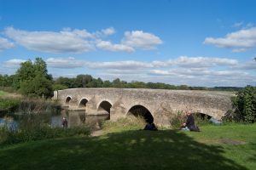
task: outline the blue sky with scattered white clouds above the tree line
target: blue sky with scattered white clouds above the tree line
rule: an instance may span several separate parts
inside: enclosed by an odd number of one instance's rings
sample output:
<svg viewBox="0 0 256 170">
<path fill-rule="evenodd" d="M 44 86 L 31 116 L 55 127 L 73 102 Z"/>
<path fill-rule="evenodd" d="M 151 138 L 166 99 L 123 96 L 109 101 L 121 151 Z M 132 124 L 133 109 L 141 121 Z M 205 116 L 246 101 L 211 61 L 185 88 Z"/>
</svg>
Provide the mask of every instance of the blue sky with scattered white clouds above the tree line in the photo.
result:
<svg viewBox="0 0 256 170">
<path fill-rule="evenodd" d="M 256 86 L 256 1 L 0 0 L 0 74 Z"/>
</svg>

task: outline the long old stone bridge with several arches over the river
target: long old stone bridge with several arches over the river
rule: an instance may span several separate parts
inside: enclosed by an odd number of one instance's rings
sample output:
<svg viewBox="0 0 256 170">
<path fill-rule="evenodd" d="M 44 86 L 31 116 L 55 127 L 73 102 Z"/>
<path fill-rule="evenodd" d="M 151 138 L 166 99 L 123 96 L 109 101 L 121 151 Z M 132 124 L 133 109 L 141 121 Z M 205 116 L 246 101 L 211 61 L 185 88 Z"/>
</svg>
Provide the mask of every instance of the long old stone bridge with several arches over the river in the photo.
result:
<svg viewBox="0 0 256 170">
<path fill-rule="evenodd" d="M 232 95 L 214 91 L 70 88 L 55 91 L 54 99 L 68 110 L 82 110 L 86 115 L 109 114 L 113 121 L 128 115 L 143 116 L 147 122 L 168 127 L 170 118 L 184 110 L 220 120 L 231 109 Z"/>
</svg>

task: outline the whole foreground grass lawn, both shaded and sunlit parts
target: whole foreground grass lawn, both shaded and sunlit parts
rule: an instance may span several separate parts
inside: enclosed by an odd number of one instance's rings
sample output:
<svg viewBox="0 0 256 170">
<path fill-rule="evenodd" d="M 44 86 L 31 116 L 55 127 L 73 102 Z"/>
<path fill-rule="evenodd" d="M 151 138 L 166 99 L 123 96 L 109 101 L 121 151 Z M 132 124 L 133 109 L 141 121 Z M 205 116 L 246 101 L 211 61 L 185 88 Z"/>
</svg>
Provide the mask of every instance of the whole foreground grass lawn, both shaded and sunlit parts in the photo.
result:
<svg viewBox="0 0 256 170">
<path fill-rule="evenodd" d="M 240 144 L 225 144 L 230 139 Z M 0 169 L 256 169 L 256 124 L 129 130 L 0 149 Z"/>
</svg>

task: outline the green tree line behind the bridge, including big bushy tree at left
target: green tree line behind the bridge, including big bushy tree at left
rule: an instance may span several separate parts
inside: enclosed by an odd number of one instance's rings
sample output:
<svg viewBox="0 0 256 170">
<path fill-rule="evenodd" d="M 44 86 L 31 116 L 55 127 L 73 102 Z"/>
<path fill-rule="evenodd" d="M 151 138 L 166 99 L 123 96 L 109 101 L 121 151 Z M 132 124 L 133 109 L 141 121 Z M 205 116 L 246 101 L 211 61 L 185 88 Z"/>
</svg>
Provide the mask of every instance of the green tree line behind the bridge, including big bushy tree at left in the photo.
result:
<svg viewBox="0 0 256 170">
<path fill-rule="evenodd" d="M 77 77 L 53 78 L 47 70 L 45 61 L 41 58 L 27 60 L 20 64 L 20 68 L 14 75 L 0 74 L 0 87 L 13 88 L 20 94 L 32 96 L 51 97 L 54 90 L 66 88 L 152 88 L 152 89 L 178 89 L 178 90 L 224 90 L 238 91 L 237 87 L 191 87 L 187 85 L 171 85 L 163 82 L 125 82 L 119 78 L 112 82 L 103 81 L 102 78 L 94 78 L 88 74 L 80 74 Z"/>
</svg>

